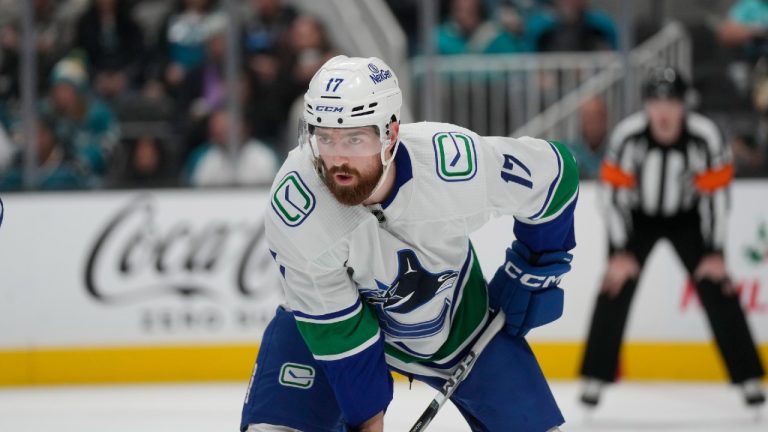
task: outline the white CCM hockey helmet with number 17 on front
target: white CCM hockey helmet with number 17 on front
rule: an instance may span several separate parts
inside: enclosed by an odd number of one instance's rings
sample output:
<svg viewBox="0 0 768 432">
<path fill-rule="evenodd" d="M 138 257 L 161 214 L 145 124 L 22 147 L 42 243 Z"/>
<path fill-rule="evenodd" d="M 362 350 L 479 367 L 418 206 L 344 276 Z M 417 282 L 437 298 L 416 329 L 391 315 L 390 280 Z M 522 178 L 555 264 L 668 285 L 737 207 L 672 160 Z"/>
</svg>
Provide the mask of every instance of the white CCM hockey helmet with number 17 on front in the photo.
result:
<svg viewBox="0 0 768 432">
<path fill-rule="evenodd" d="M 304 95 L 302 144 L 310 144 L 319 155 L 312 138 L 315 127 L 355 128 L 375 126 L 378 129 L 382 163 L 389 144 L 389 124 L 400 119 L 403 96 L 397 76 L 376 57 L 336 56 L 328 60 L 312 77 Z"/>
</svg>

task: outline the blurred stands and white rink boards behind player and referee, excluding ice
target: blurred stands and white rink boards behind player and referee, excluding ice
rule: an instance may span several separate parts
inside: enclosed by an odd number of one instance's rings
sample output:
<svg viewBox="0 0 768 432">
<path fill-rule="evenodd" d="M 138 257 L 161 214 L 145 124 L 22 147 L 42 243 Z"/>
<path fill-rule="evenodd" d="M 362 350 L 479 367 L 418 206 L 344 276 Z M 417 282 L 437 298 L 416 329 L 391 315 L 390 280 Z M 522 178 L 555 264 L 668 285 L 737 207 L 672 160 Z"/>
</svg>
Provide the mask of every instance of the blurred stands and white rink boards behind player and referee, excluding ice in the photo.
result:
<svg viewBox="0 0 768 432">
<path fill-rule="evenodd" d="M 0 0 L 0 387 L 244 391 L 281 298 L 269 185 L 298 101 L 337 54 L 393 68 L 404 122 L 572 148 L 584 181 L 566 312 L 531 334 L 564 380 L 605 267 L 593 180 L 607 138 L 642 108 L 646 72 L 677 68 L 734 155 L 727 262 L 768 358 L 768 2 Z M 486 276 L 511 225 L 474 236 Z M 685 272 L 658 249 L 621 373 L 724 385 Z"/>
</svg>

